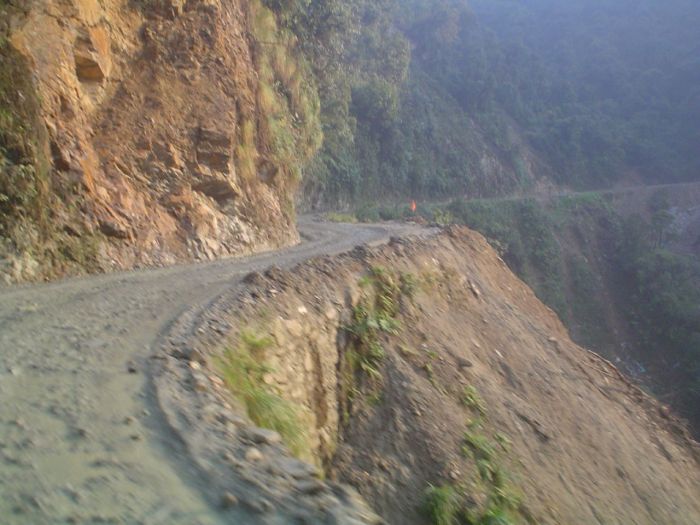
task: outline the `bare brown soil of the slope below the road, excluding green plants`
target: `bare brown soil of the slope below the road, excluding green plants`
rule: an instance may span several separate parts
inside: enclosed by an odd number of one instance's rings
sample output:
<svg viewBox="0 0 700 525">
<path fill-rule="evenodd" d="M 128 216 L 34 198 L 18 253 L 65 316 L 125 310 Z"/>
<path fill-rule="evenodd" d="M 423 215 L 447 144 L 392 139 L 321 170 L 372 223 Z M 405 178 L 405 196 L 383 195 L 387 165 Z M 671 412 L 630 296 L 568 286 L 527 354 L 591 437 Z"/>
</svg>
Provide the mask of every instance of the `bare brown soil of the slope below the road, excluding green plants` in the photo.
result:
<svg viewBox="0 0 700 525">
<path fill-rule="evenodd" d="M 343 327 L 363 293 L 358 281 L 375 266 L 424 284 L 413 300 L 401 300 L 399 333 L 383 336 L 379 389 L 360 379 L 344 415 Z M 196 384 L 187 371 L 193 355 L 235 347 L 244 329 L 272 336 L 269 381 L 310 414 L 316 461 L 389 523 L 424 523 L 419 507 L 429 484 L 463 484 L 474 501 L 486 497 L 473 459 L 463 453 L 475 417 L 462 402 L 465 387 L 483 399 L 479 432 L 510 442 L 502 466 L 531 522 L 700 521 L 700 452 L 682 423 L 612 364 L 571 342 L 554 313 L 469 230 L 253 276 L 192 326 L 201 328 L 198 342 L 169 350 L 171 364 L 182 363 L 175 366 L 183 388 Z M 207 374 L 200 407 L 230 407 L 216 368 Z M 220 423 L 212 428 L 225 432 Z M 329 445 L 328 436 L 336 442 Z M 250 446 L 238 440 L 236 457 Z M 210 457 L 222 450 L 214 446 Z M 275 461 L 266 452 L 244 471 L 276 485 L 279 478 L 269 474 Z M 236 483 L 248 490 L 245 480 Z"/>
</svg>

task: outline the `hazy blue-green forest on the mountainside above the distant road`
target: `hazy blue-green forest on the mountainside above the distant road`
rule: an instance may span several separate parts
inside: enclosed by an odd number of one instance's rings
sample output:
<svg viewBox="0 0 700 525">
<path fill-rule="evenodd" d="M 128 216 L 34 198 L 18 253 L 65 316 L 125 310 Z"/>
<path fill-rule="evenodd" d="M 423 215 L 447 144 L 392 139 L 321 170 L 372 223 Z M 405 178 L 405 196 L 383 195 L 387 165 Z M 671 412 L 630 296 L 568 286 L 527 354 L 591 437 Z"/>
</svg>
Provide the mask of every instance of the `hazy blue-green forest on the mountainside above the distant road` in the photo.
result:
<svg viewBox="0 0 700 525">
<path fill-rule="evenodd" d="M 311 205 L 700 173 L 697 3 L 267 4 L 299 37 L 321 95 Z"/>
</svg>

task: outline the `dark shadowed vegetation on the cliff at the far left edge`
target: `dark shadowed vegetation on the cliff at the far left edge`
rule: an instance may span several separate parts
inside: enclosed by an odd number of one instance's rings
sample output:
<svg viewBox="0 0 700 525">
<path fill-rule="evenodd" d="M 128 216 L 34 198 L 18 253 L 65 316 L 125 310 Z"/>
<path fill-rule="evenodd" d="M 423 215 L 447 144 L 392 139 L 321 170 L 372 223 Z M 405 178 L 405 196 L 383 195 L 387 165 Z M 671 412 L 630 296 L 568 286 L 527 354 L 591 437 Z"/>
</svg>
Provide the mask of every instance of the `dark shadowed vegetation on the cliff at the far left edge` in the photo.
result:
<svg viewBox="0 0 700 525">
<path fill-rule="evenodd" d="M 5 38 L 18 9 L 0 4 L 0 263 L 29 260 L 42 275 L 69 265 L 91 269 L 98 234 L 79 223 L 64 227 L 65 217 L 79 214 L 80 202 L 61 174 L 51 173 L 51 146 L 30 65 Z M 59 208 L 63 220 L 56 220 Z"/>
</svg>

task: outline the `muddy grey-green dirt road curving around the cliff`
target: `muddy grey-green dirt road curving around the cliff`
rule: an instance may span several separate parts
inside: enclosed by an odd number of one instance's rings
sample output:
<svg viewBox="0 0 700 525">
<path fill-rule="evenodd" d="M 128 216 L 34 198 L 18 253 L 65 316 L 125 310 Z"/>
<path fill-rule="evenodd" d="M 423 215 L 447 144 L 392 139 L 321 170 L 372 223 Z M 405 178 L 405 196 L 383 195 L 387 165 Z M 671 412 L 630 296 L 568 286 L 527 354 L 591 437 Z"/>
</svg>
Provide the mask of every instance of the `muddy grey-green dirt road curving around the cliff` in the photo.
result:
<svg viewBox="0 0 700 525">
<path fill-rule="evenodd" d="M 155 343 L 250 271 L 416 231 L 299 227 L 304 242 L 279 252 L 0 289 L 2 523 L 223 523 L 159 420 Z"/>
</svg>

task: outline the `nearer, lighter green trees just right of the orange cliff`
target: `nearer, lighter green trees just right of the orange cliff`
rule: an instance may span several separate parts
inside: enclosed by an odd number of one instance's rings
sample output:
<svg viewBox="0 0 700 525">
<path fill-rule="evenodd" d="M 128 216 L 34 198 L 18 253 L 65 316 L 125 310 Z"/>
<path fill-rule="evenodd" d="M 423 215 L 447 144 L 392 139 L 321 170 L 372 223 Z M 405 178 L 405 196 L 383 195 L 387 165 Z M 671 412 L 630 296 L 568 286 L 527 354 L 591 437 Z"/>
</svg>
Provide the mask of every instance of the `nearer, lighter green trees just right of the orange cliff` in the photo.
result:
<svg viewBox="0 0 700 525">
<path fill-rule="evenodd" d="M 266 0 L 294 33 L 316 78 L 323 148 L 305 170 L 306 192 L 330 201 L 364 190 L 359 128 L 395 114 L 408 42 L 393 26 L 393 0 Z"/>
</svg>

